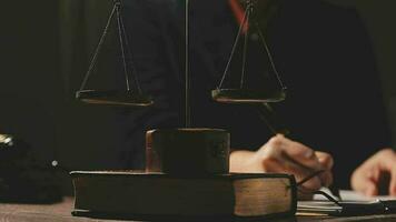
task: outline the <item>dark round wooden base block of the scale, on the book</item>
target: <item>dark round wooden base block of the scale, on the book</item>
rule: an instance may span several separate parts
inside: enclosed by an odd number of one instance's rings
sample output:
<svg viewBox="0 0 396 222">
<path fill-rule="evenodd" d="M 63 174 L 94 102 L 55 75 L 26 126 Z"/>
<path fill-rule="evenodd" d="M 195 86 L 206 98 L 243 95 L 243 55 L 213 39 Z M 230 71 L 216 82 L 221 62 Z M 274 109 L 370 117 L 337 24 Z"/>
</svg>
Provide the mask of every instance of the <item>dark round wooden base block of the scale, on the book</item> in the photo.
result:
<svg viewBox="0 0 396 222">
<path fill-rule="evenodd" d="M 146 143 L 147 172 L 187 176 L 229 172 L 230 135 L 225 130 L 152 130 Z"/>
</svg>

